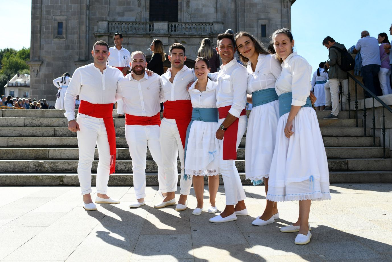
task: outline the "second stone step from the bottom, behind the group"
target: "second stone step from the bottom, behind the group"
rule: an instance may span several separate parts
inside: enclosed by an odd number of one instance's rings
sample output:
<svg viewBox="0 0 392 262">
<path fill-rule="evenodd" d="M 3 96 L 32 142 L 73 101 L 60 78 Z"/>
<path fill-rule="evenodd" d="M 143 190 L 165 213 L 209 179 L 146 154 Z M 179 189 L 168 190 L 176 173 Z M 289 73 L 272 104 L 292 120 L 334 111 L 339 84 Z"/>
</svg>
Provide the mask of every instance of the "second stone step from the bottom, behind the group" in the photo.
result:
<svg viewBox="0 0 392 262">
<path fill-rule="evenodd" d="M 178 172 L 180 172 L 180 161 Z M 98 161 L 93 161 L 93 172 L 96 172 Z M 0 172 L 76 172 L 77 160 L 0 160 Z M 236 160 L 238 172 L 245 172 L 245 160 Z M 392 170 L 392 159 L 386 158 L 350 158 L 328 159 L 330 171 L 366 171 Z M 132 160 L 117 160 L 116 172 L 132 172 Z M 146 172 L 158 172 L 152 160 L 146 161 Z"/>
</svg>

